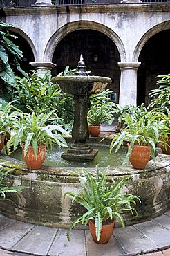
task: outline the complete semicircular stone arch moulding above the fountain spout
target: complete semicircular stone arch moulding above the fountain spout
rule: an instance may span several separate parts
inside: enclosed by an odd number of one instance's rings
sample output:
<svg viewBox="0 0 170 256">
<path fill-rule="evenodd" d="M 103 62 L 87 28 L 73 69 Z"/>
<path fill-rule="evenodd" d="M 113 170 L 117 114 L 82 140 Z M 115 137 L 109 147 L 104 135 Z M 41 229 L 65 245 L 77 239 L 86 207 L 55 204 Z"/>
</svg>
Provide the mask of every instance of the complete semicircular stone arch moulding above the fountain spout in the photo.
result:
<svg viewBox="0 0 170 256">
<path fill-rule="evenodd" d="M 75 22 L 70 22 L 68 24 L 65 24 L 64 26 L 62 26 L 62 28 L 59 28 L 59 30 L 57 30 L 53 34 L 53 36 L 50 38 L 50 40 L 46 46 L 46 49 L 44 51 L 44 62 L 51 62 L 53 53 L 55 51 L 55 47 L 66 35 L 68 35 L 68 33 L 71 33 L 75 30 L 80 30 L 80 29 L 81 30 L 82 29 L 97 30 L 97 31 L 103 33 L 104 35 L 106 35 L 107 37 L 109 37 L 117 46 L 117 49 L 120 53 L 121 62 L 126 61 L 126 53 L 125 53 L 124 45 L 123 45 L 120 37 L 118 37 L 113 32 L 113 30 L 111 30 L 111 28 L 108 28 L 102 24 L 99 24 L 99 23 L 93 22 L 93 21 L 75 21 Z"/>
</svg>

